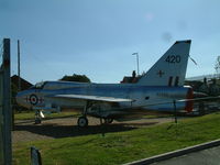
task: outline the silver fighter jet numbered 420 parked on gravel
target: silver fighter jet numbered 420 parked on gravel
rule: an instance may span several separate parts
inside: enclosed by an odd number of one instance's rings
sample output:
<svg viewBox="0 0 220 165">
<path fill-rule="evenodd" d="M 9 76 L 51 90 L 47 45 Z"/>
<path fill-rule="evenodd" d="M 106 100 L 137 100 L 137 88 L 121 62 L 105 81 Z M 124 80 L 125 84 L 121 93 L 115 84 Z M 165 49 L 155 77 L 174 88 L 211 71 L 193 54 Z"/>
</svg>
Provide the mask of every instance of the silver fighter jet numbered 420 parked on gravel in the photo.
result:
<svg viewBox="0 0 220 165">
<path fill-rule="evenodd" d="M 87 116 L 106 123 L 127 117 L 143 116 L 148 110 L 173 112 L 193 110 L 193 89 L 184 86 L 190 40 L 177 41 L 135 84 L 87 84 L 43 81 L 16 96 L 19 105 L 36 110 L 35 122 L 42 112 L 64 109 L 79 110 L 78 125 L 88 125 Z"/>
</svg>

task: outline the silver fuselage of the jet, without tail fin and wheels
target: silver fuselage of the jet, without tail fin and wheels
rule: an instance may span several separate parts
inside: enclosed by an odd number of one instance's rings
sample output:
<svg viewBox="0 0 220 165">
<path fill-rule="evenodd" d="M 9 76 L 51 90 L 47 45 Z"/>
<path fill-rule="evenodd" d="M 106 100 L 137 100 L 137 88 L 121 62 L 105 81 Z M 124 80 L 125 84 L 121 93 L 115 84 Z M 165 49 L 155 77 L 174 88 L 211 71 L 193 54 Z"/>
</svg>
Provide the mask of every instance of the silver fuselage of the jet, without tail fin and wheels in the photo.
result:
<svg viewBox="0 0 220 165">
<path fill-rule="evenodd" d="M 100 102 L 98 107 L 88 110 L 95 117 L 117 118 L 133 113 L 151 111 L 174 112 L 174 100 L 191 99 L 190 87 L 141 86 L 136 84 L 85 84 L 68 81 L 45 81 L 42 86 L 19 92 L 16 101 L 32 109 L 59 111 L 64 109 L 81 110 L 88 100 L 66 99 L 58 96 L 99 96 L 108 98 L 125 98 L 131 101 Z M 57 97 L 50 97 L 57 96 Z M 95 100 L 91 100 L 91 102 Z M 99 102 L 99 101 L 97 101 Z M 111 106 L 110 106 L 111 105 Z M 97 110 L 97 109 L 99 110 Z M 188 102 L 176 102 L 177 110 L 191 111 Z M 135 110 L 133 110 L 135 109 Z M 132 111 L 131 111 L 132 110 Z M 127 113 L 128 112 L 128 113 Z M 132 112 L 132 113 L 131 113 Z M 101 114 L 99 114 L 101 113 Z"/>
</svg>

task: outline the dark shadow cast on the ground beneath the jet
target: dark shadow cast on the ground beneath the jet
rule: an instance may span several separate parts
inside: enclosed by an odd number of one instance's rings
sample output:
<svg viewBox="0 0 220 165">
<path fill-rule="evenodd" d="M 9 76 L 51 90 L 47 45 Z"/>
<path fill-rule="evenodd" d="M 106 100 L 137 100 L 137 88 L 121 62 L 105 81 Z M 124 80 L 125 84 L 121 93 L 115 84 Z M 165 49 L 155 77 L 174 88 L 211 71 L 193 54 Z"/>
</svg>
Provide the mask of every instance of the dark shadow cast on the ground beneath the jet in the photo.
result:
<svg viewBox="0 0 220 165">
<path fill-rule="evenodd" d="M 138 129 L 139 127 L 153 125 L 157 122 L 146 122 L 146 123 L 112 123 L 102 125 L 89 125 L 87 128 L 78 128 L 77 125 L 57 125 L 57 124 L 26 124 L 14 127 L 14 131 L 29 131 L 38 135 L 46 135 L 54 139 L 69 138 L 69 136 L 80 136 L 89 134 L 102 134 L 110 132 L 123 132 Z"/>
</svg>

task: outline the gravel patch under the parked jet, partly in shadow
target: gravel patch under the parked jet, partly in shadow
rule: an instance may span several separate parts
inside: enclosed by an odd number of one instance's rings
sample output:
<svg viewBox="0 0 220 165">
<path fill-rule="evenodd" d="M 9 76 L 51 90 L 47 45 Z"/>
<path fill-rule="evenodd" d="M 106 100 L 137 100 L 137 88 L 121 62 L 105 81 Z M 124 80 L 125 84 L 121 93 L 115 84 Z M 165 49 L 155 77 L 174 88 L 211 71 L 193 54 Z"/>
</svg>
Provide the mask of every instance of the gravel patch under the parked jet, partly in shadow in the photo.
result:
<svg viewBox="0 0 220 165">
<path fill-rule="evenodd" d="M 117 122 L 108 125 L 100 125 L 100 120 L 88 118 L 89 127 L 80 129 L 77 127 L 77 118 L 62 118 L 44 120 L 42 124 L 34 124 L 33 121 L 15 121 L 12 131 L 12 143 L 30 142 L 46 139 L 59 139 L 67 136 L 79 136 L 97 133 L 129 131 L 136 128 L 151 127 L 164 122 L 174 121 L 173 118 L 140 119 L 127 122 Z"/>
</svg>

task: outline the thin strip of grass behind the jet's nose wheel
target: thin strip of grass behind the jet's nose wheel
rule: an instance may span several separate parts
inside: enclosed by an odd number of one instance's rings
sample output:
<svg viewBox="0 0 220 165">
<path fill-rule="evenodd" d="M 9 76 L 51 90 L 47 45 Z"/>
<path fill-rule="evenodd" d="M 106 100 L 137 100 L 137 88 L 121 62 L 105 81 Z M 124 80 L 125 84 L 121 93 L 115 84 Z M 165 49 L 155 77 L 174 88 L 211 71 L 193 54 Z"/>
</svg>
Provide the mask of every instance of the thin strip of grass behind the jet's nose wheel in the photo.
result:
<svg viewBox="0 0 220 165">
<path fill-rule="evenodd" d="M 51 113 L 51 114 L 44 114 L 46 119 L 51 118 L 63 118 L 68 116 L 76 116 L 76 112 L 62 112 L 62 113 Z M 31 112 L 21 112 L 14 114 L 15 120 L 33 120 L 34 119 L 34 111 Z"/>
</svg>

